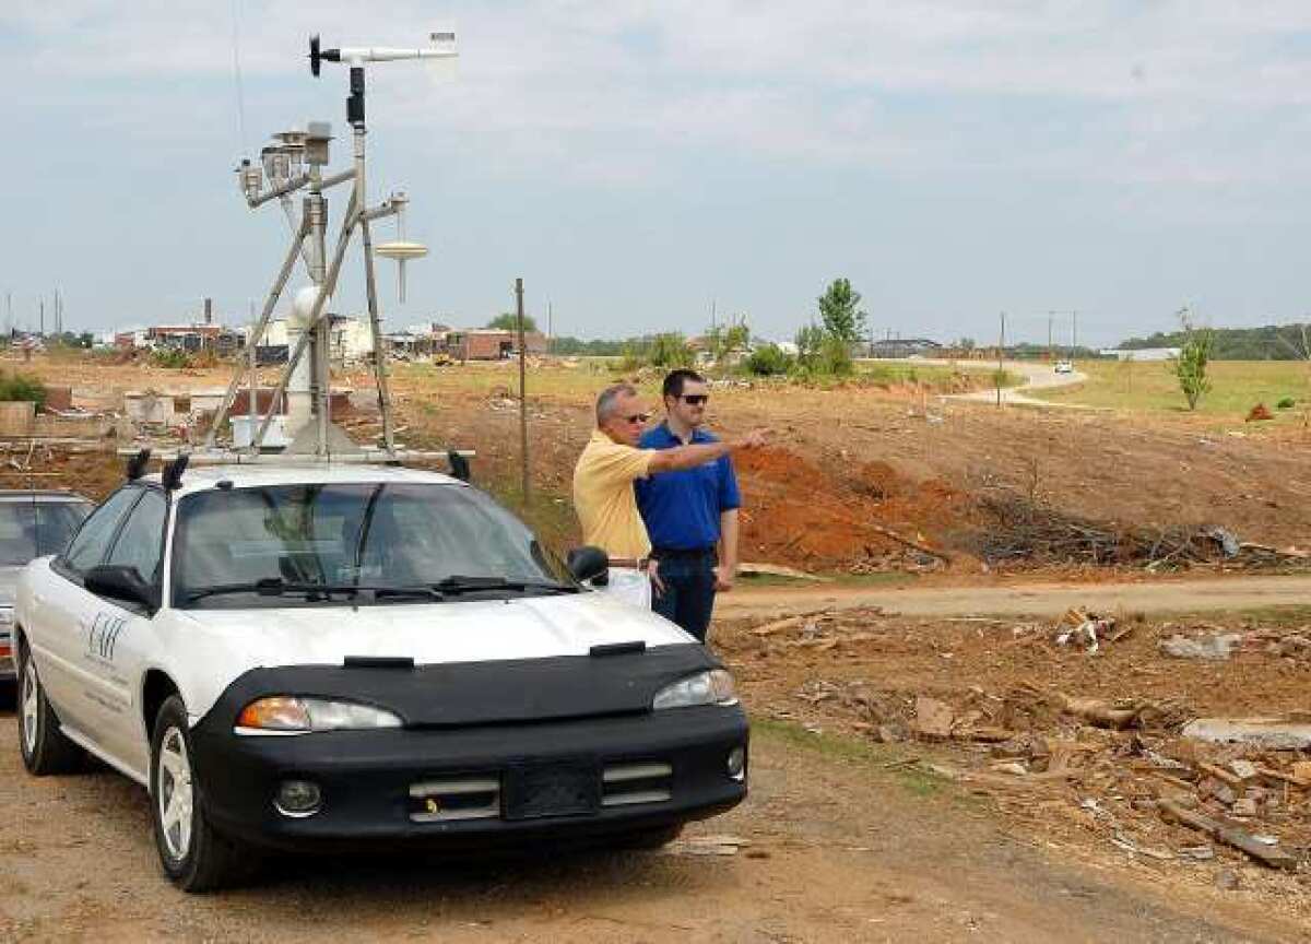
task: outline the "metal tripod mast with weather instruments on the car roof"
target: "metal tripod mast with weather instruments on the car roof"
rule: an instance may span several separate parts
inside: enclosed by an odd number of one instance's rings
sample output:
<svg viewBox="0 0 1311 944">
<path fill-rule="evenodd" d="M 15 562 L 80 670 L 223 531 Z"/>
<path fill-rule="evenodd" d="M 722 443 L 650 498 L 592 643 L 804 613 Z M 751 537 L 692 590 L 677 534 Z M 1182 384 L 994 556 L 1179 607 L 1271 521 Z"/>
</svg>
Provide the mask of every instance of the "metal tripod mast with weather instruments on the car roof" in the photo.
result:
<svg viewBox="0 0 1311 944">
<path fill-rule="evenodd" d="M 328 299 L 337 287 L 346 250 L 358 229 L 363 249 L 368 321 L 374 342 L 378 405 L 383 421 L 383 455 L 379 458 L 399 458 L 393 437 L 391 396 L 387 385 L 387 358 L 383 350 L 382 313 L 378 303 L 378 283 L 374 271 L 374 244 L 370 224 L 375 220 L 397 215 L 405 207 L 408 198 L 404 194 L 396 194 L 378 206 L 368 206 L 364 159 L 364 138 L 367 134 L 364 123 L 364 67 L 366 63 L 396 62 L 401 59 L 447 59 L 458 55 L 454 33 L 434 33 L 431 34 L 431 42 L 433 46 L 430 49 L 342 47 L 323 50 L 320 49 L 319 37 L 311 37 L 309 68 L 315 76 L 320 75 L 321 63 L 324 62 L 346 63 L 350 67 L 350 96 L 346 98 L 346 121 L 351 127 L 354 146 L 351 169 L 324 176 L 324 168 L 328 165 L 332 132 L 330 127 L 323 122 L 312 122 L 305 131 L 287 131 L 275 135 L 277 144 L 265 147 L 261 151 L 260 164 L 243 160 L 237 168 L 237 181 L 248 206 L 253 210 L 277 199 L 282 205 L 291 228 L 291 244 L 287 254 L 265 299 L 260 319 L 250 332 L 249 379 L 252 418 L 258 410 L 256 404 L 254 349 L 264 338 L 274 308 L 279 298 L 282 298 L 282 292 L 291 278 L 298 258 L 304 262 L 316 290 L 308 311 L 302 312 L 303 330 L 295 346 L 288 353 L 287 364 L 269 400 L 267 412 L 262 414 L 258 429 L 252 430 L 249 444 L 249 454 L 252 456 L 260 454 L 274 413 L 283 397 L 287 396 L 288 387 L 292 384 L 294 378 L 298 376 L 298 367 L 307 353 L 309 374 L 307 387 L 311 417 L 309 422 L 295 434 L 288 451 L 312 454 L 321 458 L 329 458 L 334 454 L 341 456 L 341 454 L 358 455 L 364 452 L 364 450 L 353 443 L 345 433 L 332 423 L 329 397 L 329 349 L 332 333 L 330 319 L 326 313 Z M 342 215 L 337 243 L 329 261 L 326 254 L 328 201 L 324 197 L 324 191 L 346 182 L 353 184 L 351 194 Z M 298 214 L 291 197 L 302 190 L 305 191 L 305 197 Z M 206 450 L 214 448 L 215 435 L 231 413 L 237 388 L 241 385 L 245 372 L 246 368 L 244 364 L 239 364 L 233 371 L 232 380 L 228 383 L 219 412 L 214 418 L 214 425 L 206 435 Z M 303 379 L 303 375 L 300 378 Z"/>
</svg>

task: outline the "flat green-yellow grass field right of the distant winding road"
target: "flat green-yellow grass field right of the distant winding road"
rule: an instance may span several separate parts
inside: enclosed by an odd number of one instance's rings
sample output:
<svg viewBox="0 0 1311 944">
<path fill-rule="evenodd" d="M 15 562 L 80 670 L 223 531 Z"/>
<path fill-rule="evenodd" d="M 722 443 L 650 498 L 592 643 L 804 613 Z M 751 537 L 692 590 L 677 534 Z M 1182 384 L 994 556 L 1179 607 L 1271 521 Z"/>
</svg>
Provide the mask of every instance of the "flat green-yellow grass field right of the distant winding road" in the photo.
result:
<svg viewBox="0 0 1311 944">
<path fill-rule="evenodd" d="M 1078 387 L 1040 391 L 1044 400 L 1101 406 L 1130 412 L 1186 412 L 1188 404 L 1179 389 L 1179 380 L 1162 362 L 1084 361 L 1079 371 L 1088 382 Z M 1211 389 L 1197 412 L 1207 416 L 1247 416 L 1259 403 L 1273 413 L 1301 417 L 1311 405 L 1311 364 L 1301 361 L 1213 361 L 1207 368 Z M 1278 410 L 1276 404 L 1291 397 L 1297 406 Z"/>
</svg>

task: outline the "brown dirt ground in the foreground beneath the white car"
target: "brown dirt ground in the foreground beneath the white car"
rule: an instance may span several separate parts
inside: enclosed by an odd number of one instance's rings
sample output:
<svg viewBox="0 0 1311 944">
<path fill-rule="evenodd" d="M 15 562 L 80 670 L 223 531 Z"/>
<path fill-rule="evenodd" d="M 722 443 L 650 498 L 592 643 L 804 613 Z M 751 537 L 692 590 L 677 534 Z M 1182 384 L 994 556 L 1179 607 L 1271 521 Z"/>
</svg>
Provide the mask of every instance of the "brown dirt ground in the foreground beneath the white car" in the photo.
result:
<svg viewBox="0 0 1311 944">
<path fill-rule="evenodd" d="M 146 797 L 117 774 L 33 779 L 0 715 L 0 940 L 935 941 L 1291 940 L 1242 895 L 1147 869 L 1062 863 L 954 788 L 766 728 L 753 792 L 688 830 L 733 856 L 590 854 L 514 863 L 295 859 L 189 897 L 159 873 Z M 812 742 L 813 741 L 813 742 Z"/>
</svg>

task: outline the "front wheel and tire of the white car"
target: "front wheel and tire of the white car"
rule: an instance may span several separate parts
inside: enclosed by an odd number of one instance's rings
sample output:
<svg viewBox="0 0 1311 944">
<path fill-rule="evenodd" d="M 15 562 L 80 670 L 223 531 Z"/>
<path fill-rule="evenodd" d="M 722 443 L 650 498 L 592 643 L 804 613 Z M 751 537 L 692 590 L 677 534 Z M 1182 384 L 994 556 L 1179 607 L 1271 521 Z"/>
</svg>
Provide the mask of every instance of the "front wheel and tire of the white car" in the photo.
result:
<svg viewBox="0 0 1311 944">
<path fill-rule="evenodd" d="M 160 705 L 151 732 L 151 825 L 164 875 L 184 892 L 212 892 L 246 877 L 253 856 L 205 816 L 205 791 L 186 707 L 177 695 Z"/>
</svg>

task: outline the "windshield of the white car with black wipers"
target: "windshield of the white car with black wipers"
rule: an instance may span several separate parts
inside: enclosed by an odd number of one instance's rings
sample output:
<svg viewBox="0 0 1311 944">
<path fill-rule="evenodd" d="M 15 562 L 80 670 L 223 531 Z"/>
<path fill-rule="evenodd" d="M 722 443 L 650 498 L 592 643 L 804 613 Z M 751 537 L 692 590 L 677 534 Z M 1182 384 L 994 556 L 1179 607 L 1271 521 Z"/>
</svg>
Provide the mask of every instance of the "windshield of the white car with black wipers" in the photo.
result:
<svg viewBox="0 0 1311 944">
<path fill-rule="evenodd" d="M 178 503 L 180 607 L 354 606 L 572 593 L 514 515 L 442 484 L 216 489 Z"/>
</svg>

